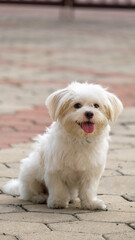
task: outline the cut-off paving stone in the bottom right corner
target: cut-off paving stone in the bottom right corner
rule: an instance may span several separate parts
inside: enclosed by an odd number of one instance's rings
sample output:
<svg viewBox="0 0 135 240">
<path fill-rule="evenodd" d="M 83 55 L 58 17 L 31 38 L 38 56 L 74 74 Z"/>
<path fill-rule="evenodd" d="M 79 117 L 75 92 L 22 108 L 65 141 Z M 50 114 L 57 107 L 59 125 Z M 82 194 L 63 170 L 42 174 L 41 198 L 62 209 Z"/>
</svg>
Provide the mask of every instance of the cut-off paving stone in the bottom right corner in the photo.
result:
<svg viewBox="0 0 135 240">
<path fill-rule="evenodd" d="M 114 234 L 105 234 L 106 240 L 134 240 L 134 232 L 124 232 L 124 233 L 114 233 Z"/>
</svg>

